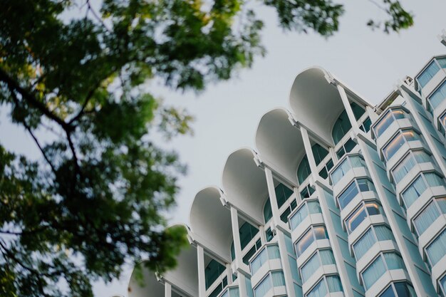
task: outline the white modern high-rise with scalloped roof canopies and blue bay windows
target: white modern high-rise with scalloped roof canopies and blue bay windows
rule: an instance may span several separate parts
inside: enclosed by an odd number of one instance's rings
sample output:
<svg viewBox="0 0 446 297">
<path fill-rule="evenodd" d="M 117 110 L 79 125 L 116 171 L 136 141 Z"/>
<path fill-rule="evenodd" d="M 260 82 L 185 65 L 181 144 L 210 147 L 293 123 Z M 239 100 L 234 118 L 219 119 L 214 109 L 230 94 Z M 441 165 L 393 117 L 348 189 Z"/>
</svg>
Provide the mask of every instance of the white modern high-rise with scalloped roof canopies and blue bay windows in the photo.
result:
<svg viewBox="0 0 446 297">
<path fill-rule="evenodd" d="M 302 71 L 195 196 L 177 268 L 129 297 L 446 296 L 445 130 L 446 55 L 376 106 Z"/>
</svg>

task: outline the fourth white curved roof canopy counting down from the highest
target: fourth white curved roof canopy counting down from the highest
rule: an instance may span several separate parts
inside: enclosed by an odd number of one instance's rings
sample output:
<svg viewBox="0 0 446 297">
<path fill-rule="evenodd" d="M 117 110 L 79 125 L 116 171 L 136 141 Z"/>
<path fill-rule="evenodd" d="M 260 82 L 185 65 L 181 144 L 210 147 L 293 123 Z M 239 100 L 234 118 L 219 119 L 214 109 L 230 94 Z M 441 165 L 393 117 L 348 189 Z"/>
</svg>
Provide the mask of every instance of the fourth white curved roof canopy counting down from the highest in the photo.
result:
<svg viewBox="0 0 446 297">
<path fill-rule="evenodd" d="M 207 187 L 195 195 L 190 209 L 190 229 L 202 246 L 231 262 L 231 212 L 220 201 L 217 187 Z"/>
</svg>

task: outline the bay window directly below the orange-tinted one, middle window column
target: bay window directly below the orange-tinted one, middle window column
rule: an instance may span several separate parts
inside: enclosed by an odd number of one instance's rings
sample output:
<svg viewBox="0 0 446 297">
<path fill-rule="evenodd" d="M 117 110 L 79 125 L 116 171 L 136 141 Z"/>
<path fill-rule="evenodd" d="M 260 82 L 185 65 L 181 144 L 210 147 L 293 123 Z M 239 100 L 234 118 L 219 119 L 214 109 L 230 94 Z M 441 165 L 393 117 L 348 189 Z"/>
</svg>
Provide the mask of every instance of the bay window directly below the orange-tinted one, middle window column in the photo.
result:
<svg viewBox="0 0 446 297">
<path fill-rule="evenodd" d="M 355 244 L 353 244 L 353 251 L 355 254 L 356 261 L 362 258 L 362 256 L 367 253 L 367 251 L 375 244 L 377 241 L 393 240 L 392 231 L 385 225 L 375 225 L 371 226 L 363 236 L 361 236 Z"/>
</svg>

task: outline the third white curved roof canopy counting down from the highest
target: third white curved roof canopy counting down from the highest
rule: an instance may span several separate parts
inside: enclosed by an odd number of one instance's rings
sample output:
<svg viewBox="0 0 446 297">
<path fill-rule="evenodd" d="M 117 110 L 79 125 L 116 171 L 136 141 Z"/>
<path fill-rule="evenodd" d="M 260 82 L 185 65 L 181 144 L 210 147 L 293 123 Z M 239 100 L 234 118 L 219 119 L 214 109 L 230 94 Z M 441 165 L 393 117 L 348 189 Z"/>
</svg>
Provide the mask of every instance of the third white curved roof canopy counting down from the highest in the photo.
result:
<svg viewBox="0 0 446 297">
<path fill-rule="evenodd" d="M 232 152 L 224 165 L 222 184 L 228 201 L 258 224 L 263 224 L 263 207 L 268 197 L 265 172 L 254 162 L 249 148 Z"/>
</svg>

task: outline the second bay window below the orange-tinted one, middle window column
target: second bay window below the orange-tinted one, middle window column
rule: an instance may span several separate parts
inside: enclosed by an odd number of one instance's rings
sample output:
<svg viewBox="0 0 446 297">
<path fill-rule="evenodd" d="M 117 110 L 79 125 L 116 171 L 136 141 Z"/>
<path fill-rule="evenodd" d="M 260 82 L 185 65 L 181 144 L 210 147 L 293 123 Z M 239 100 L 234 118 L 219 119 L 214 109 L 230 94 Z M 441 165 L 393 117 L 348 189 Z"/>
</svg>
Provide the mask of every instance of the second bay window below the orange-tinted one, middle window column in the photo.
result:
<svg viewBox="0 0 446 297">
<path fill-rule="evenodd" d="M 373 261 L 361 276 L 365 290 L 368 290 L 378 279 L 383 276 L 385 271 L 393 269 L 405 269 L 403 259 L 396 253 L 383 253 Z"/>
</svg>

